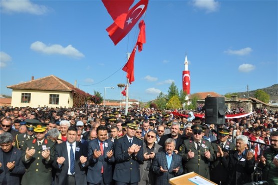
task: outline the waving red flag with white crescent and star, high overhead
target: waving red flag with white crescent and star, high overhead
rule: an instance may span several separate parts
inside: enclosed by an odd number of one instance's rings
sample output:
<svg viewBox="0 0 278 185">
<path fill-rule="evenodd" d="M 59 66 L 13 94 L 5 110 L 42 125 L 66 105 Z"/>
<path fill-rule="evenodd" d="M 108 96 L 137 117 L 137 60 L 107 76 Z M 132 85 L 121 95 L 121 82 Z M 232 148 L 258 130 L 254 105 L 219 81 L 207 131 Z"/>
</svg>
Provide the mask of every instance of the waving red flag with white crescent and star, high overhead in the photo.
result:
<svg viewBox="0 0 278 185">
<path fill-rule="evenodd" d="M 110 39 L 115 45 L 117 45 L 130 32 L 141 16 L 146 12 L 148 2 L 149 0 L 141 0 L 128 11 L 123 29 L 121 29 L 116 23 L 113 23 L 106 29 Z"/>
</svg>

